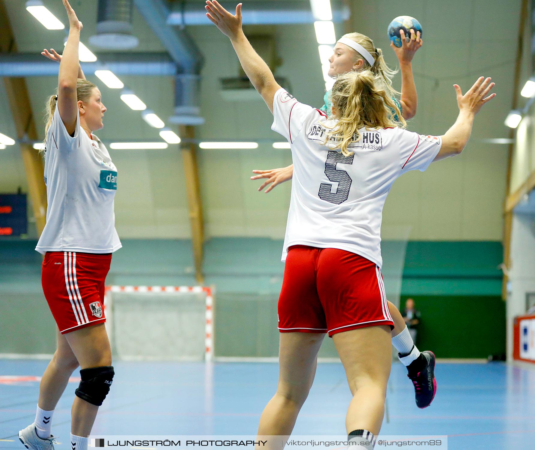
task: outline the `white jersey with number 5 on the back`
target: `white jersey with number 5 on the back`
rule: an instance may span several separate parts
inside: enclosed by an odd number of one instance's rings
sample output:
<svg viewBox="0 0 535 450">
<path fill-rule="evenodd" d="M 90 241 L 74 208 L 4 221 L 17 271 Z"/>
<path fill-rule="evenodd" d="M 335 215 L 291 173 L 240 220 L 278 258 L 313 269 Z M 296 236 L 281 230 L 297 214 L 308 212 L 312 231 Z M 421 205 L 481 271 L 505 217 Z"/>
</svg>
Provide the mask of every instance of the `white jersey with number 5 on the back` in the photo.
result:
<svg viewBox="0 0 535 450">
<path fill-rule="evenodd" d="M 298 102 L 284 89 L 273 99 L 271 129 L 290 142 L 294 175 L 282 260 L 296 244 L 357 253 L 381 267 L 381 219 L 392 183 L 404 172 L 424 171 L 440 150 L 437 136 L 398 127 L 359 130 L 345 156 L 323 145 L 323 111 Z"/>
</svg>

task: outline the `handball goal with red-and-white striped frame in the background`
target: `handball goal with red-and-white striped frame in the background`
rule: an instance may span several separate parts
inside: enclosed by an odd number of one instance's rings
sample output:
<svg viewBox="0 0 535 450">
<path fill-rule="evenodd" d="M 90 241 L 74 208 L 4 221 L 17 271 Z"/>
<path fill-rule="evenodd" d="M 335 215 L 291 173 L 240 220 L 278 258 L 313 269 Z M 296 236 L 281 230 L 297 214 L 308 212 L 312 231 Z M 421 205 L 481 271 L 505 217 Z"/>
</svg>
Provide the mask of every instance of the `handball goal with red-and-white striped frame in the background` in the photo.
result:
<svg viewBox="0 0 535 450">
<path fill-rule="evenodd" d="M 212 306 L 212 290 L 202 286 L 108 286 L 112 353 L 126 361 L 210 361 Z"/>
</svg>

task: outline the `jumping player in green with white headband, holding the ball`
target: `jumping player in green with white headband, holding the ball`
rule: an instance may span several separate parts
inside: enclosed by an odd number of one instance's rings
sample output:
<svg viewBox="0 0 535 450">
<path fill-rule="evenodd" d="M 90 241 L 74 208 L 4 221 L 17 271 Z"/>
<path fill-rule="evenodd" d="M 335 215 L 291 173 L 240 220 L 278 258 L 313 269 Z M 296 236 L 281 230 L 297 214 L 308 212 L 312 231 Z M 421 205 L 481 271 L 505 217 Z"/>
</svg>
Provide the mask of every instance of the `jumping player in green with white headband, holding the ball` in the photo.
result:
<svg viewBox="0 0 535 450">
<path fill-rule="evenodd" d="M 410 119 L 416 114 L 417 95 L 414 77 L 412 76 L 411 61 L 416 50 L 422 47 L 423 41 L 420 32 L 415 34 L 414 29 L 410 30 L 410 40 L 407 42 L 403 29 L 400 30 L 401 47 L 394 46 L 396 56 L 400 63 L 401 71 L 401 100 L 398 101 L 395 95 L 399 94 L 392 87 L 392 78 L 396 71 L 388 68 L 383 57 L 383 51 L 375 47 L 373 41 L 361 33 L 348 33 L 342 36 L 333 49 L 333 54 L 329 58 L 330 77 L 338 77 L 350 71 L 370 70 L 375 74 L 385 91 L 392 97 L 392 101 L 401 111 L 401 117 Z M 320 110 L 327 115 L 331 114 L 331 91 L 324 95 L 324 105 Z M 394 120 L 399 121 L 399 117 L 393 111 Z M 273 187 L 292 179 L 294 166 L 270 170 L 253 170 L 255 175 L 251 179 L 266 178 L 266 181 L 258 188 L 259 191 L 270 185 L 265 192 L 269 192 Z M 398 308 L 387 301 L 388 311 L 394 321 L 392 329 L 392 344 L 398 350 L 399 360 L 407 367 L 408 377 L 412 381 L 415 390 L 415 400 L 418 408 L 427 408 L 434 399 L 437 392 L 437 381 L 434 377 L 435 356 L 431 351 L 420 352 L 416 347 L 409 329 L 403 320 Z"/>
</svg>

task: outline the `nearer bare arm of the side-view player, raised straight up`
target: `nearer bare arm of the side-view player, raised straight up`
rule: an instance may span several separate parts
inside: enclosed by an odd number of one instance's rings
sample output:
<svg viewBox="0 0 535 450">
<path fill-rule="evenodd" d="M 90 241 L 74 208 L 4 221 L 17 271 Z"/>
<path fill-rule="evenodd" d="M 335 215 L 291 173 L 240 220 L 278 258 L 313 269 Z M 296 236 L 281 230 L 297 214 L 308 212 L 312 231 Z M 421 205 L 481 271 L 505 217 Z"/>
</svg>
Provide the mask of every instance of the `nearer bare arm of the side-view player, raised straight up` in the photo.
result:
<svg viewBox="0 0 535 450">
<path fill-rule="evenodd" d="M 78 116 L 76 84 L 79 68 L 78 46 L 82 22 L 78 20 L 76 13 L 67 0 L 63 0 L 63 5 L 67 10 L 70 28 L 63 57 L 59 63 L 58 109 L 67 132 L 72 134 L 74 133 Z"/>
</svg>

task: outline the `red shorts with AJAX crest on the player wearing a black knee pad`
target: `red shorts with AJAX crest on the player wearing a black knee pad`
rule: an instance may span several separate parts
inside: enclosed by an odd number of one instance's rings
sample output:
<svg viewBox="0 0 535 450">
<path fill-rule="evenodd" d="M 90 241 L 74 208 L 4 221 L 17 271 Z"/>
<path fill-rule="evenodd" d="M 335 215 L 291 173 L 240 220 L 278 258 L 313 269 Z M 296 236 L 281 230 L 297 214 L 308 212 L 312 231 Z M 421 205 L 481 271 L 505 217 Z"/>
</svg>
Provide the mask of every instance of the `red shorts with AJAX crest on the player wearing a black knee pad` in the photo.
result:
<svg viewBox="0 0 535 450">
<path fill-rule="evenodd" d="M 101 324 L 111 254 L 47 252 L 41 284 L 59 332 Z"/>
</svg>

